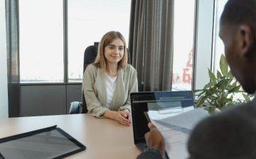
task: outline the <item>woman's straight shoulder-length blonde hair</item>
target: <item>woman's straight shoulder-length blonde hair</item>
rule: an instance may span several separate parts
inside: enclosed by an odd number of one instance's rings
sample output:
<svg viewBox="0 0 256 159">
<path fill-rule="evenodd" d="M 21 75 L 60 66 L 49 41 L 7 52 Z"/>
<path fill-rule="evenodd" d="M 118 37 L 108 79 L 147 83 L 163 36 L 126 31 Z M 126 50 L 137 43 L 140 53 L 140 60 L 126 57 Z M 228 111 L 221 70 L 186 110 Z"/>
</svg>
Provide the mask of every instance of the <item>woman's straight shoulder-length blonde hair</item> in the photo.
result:
<svg viewBox="0 0 256 159">
<path fill-rule="evenodd" d="M 102 39 L 100 40 L 98 49 L 97 49 L 97 57 L 95 59 L 95 66 L 102 68 L 102 70 L 107 70 L 107 59 L 104 55 L 104 48 L 107 45 L 110 45 L 113 40 L 119 38 L 122 40 L 122 43 L 124 43 L 124 55 L 122 59 L 118 62 L 118 67 L 125 68 L 127 67 L 127 61 L 128 61 L 128 56 L 127 56 L 127 45 L 124 40 L 124 36 L 119 33 L 118 31 L 110 31 L 105 33 L 103 35 Z"/>
</svg>

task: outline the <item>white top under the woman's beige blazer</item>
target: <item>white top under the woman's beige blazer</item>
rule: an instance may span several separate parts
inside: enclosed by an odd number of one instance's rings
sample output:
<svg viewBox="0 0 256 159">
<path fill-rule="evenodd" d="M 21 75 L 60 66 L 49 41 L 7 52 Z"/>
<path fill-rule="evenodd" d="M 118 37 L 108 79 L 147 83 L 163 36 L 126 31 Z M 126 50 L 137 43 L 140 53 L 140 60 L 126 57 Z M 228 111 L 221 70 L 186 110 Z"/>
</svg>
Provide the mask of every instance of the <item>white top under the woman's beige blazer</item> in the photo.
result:
<svg viewBox="0 0 256 159">
<path fill-rule="evenodd" d="M 110 104 L 112 102 L 113 99 L 113 95 L 114 95 L 114 87 L 116 85 L 116 81 L 117 81 L 117 76 L 116 77 L 111 77 L 109 75 L 107 75 L 106 73 L 106 90 L 107 90 L 107 103 L 106 103 L 106 108 L 109 109 L 110 108 Z"/>
</svg>

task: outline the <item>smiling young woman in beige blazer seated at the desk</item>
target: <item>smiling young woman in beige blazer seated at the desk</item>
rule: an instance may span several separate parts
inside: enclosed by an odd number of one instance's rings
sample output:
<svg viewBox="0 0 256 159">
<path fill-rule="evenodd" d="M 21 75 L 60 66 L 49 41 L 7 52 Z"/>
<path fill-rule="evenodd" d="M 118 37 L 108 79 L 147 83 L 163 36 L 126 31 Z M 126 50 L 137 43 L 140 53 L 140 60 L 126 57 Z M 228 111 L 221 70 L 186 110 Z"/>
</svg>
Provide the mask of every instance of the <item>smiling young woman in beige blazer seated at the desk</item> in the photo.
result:
<svg viewBox="0 0 256 159">
<path fill-rule="evenodd" d="M 127 46 L 117 31 L 103 35 L 96 60 L 88 65 L 82 87 L 88 113 L 131 125 L 129 94 L 138 92 L 137 71 L 127 64 Z"/>
</svg>

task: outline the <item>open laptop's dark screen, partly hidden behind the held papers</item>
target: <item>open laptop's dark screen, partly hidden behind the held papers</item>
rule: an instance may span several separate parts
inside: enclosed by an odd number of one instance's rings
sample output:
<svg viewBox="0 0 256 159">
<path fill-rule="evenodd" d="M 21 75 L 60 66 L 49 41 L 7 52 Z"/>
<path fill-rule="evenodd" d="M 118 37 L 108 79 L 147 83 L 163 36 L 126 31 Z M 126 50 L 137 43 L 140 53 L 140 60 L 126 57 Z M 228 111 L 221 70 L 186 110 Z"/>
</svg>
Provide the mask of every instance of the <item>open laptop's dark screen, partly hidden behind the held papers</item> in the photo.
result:
<svg viewBox="0 0 256 159">
<path fill-rule="evenodd" d="M 191 91 L 163 91 L 131 93 L 132 126 L 134 143 L 145 143 L 144 134 L 149 131 L 144 111 L 155 110 L 166 113 L 169 109 L 194 106 Z"/>
</svg>

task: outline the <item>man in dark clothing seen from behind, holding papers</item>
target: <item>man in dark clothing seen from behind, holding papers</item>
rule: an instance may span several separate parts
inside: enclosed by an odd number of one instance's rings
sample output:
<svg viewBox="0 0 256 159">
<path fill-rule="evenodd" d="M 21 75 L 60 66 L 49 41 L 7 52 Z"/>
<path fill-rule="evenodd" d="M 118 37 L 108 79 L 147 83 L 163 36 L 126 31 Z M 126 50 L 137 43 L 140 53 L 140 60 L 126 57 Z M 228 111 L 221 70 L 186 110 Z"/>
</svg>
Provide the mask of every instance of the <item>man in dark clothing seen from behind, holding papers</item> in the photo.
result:
<svg viewBox="0 0 256 159">
<path fill-rule="evenodd" d="M 231 72 L 246 92 L 255 93 L 256 0 L 229 0 L 220 18 L 219 36 Z M 154 125 L 149 124 L 149 129 L 147 146 L 164 155 L 163 136 Z M 188 140 L 188 153 L 190 159 L 256 158 L 256 99 L 201 121 Z M 138 158 L 150 158 L 146 156 Z"/>
</svg>

